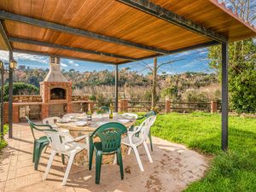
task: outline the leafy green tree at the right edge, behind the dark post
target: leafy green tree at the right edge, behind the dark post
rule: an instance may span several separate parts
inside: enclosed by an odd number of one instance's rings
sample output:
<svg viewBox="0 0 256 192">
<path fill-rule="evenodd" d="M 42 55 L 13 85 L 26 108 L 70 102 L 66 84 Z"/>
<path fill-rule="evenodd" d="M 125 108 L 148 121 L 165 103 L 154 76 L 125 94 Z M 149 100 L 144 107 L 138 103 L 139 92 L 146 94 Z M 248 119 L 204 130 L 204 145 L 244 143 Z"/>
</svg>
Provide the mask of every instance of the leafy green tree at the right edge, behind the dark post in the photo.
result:
<svg viewBox="0 0 256 192">
<path fill-rule="evenodd" d="M 241 18 L 253 21 L 249 0 L 229 1 L 233 10 Z M 256 44 L 253 39 L 247 39 L 229 44 L 229 90 L 231 107 L 238 113 L 256 112 Z M 221 48 L 215 46 L 209 49 L 210 67 L 221 74 Z"/>
</svg>

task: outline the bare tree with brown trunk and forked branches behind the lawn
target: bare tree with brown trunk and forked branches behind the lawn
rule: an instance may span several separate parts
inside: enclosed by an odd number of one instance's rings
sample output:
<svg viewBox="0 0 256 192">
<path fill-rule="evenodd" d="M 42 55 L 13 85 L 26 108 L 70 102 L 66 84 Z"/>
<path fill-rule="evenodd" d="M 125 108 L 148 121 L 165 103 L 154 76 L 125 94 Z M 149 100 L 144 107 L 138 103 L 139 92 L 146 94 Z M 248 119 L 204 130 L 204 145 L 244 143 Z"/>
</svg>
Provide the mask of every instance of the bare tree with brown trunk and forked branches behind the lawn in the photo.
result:
<svg viewBox="0 0 256 192">
<path fill-rule="evenodd" d="M 155 107 L 156 103 L 156 87 L 157 87 L 157 73 L 160 67 L 166 66 L 168 64 L 174 63 L 176 61 L 181 61 L 183 59 L 177 59 L 173 61 L 167 61 L 167 62 L 162 62 L 160 64 L 157 64 L 157 57 L 154 57 L 154 64 L 153 67 L 150 67 L 148 63 L 143 61 L 143 65 L 147 67 L 150 72 L 152 73 L 152 89 L 151 89 L 151 108 Z"/>
</svg>

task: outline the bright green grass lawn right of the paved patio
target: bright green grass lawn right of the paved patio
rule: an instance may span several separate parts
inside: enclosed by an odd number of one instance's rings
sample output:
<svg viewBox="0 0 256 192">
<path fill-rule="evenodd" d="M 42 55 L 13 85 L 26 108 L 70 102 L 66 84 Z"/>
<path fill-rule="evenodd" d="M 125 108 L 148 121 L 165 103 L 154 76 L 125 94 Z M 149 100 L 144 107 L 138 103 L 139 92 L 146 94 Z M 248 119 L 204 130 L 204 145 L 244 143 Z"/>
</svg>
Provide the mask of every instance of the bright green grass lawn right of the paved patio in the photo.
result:
<svg viewBox="0 0 256 192">
<path fill-rule="evenodd" d="M 159 115 L 152 133 L 213 154 L 206 177 L 185 191 L 256 191 L 256 119 L 230 117 L 229 151 L 221 151 L 221 117 L 210 113 Z"/>
</svg>

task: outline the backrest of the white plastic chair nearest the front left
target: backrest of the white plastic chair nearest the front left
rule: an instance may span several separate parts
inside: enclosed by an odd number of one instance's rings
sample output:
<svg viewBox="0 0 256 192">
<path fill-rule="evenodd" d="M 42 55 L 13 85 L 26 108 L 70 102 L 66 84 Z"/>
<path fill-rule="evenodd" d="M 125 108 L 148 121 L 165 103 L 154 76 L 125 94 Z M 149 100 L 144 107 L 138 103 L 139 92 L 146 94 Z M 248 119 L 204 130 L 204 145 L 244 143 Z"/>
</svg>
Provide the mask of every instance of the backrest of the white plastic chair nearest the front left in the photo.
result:
<svg viewBox="0 0 256 192">
<path fill-rule="evenodd" d="M 44 131 L 45 135 L 48 137 L 50 146 L 53 150 L 59 153 L 66 153 L 67 149 L 65 145 L 67 144 L 65 133 L 61 131 Z"/>
</svg>

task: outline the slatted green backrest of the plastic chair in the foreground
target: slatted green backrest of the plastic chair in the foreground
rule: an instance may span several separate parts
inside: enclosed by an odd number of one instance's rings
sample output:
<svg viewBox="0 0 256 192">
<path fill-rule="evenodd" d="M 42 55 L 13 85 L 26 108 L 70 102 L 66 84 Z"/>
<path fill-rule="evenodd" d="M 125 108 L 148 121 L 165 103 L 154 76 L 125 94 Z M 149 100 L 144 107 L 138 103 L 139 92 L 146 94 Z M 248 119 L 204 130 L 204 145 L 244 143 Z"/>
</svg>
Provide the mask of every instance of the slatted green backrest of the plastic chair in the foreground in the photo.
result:
<svg viewBox="0 0 256 192">
<path fill-rule="evenodd" d="M 121 136 L 127 131 L 125 125 L 120 123 L 107 123 L 101 125 L 94 131 L 90 138 L 99 137 L 102 143 L 103 152 L 116 151 L 121 145 Z"/>
</svg>

